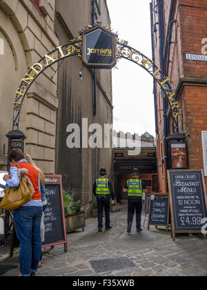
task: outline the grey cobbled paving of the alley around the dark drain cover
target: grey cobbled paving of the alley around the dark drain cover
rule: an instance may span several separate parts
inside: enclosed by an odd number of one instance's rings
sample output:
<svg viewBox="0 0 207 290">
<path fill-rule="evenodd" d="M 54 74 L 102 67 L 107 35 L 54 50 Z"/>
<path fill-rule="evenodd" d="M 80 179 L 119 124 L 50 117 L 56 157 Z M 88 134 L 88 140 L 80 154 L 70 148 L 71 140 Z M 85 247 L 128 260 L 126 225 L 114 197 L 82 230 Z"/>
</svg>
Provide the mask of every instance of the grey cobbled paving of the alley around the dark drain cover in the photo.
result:
<svg viewBox="0 0 207 290">
<path fill-rule="evenodd" d="M 113 231 L 97 233 L 97 219 L 86 220 L 86 229 L 68 234 L 68 253 L 57 245 L 43 254 L 43 268 L 37 276 L 207 276 L 207 239 L 199 235 L 177 235 L 173 242 L 170 233 L 144 228 L 141 235 L 135 229 L 126 233 L 126 207 L 111 215 Z M 133 224 L 135 226 L 135 224 Z M 137 238 L 138 237 L 138 238 Z M 129 258 L 131 269 L 95 273 L 92 260 Z M 18 264 L 16 257 L 8 264 Z M 1 262 L 1 264 L 3 264 Z M 14 269 L 3 276 L 19 275 Z"/>
</svg>

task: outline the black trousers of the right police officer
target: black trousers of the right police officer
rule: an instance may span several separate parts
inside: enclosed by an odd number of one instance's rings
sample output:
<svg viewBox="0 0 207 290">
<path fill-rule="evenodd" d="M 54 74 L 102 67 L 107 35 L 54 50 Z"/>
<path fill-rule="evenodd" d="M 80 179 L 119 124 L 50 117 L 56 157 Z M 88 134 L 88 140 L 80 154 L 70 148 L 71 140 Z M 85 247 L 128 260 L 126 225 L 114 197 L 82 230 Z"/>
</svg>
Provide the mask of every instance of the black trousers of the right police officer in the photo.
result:
<svg viewBox="0 0 207 290">
<path fill-rule="evenodd" d="M 133 222 L 133 217 L 136 209 L 136 223 L 137 227 L 141 226 L 141 211 L 142 211 L 142 200 L 141 198 L 130 199 L 128 198 L 128 224 Z"/>
</svg>

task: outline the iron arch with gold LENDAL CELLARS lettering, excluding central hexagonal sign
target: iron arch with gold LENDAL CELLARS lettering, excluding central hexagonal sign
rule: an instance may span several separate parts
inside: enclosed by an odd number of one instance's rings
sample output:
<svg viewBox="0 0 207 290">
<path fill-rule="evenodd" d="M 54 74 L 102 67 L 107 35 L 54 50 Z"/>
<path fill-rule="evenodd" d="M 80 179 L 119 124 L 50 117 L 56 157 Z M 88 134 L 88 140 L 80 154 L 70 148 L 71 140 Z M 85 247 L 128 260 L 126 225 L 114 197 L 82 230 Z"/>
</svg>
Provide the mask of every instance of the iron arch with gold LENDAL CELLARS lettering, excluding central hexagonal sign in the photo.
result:
<svg viewBox="0 0 207 290">
<path fill-rule="evenodd" d="M 105 27 L 106 29 L 110 29 L 108 26 Z M 179 115 L 179 103 L 175 98 L 175 90 L 172 90 L 169 85 L 170 79 L 166 77 L 162 72 L 161 69 L 158 68 L 152 60 L 148 57 L 143 55 L 139 50 L 135 50 L 134 48 L 128 46 L 128 41 L 119 40 L 117 38 L 117 59 L 127 59 L 132 61 L 133 63 L 141 66 L 144 68 L 152 77 L 154 77 L 161 86 L 164 94 L 168 98 L 169 101 L 169 108 L 168 111 L 172 113 L 174 118 L 177 118 Z M 72 57 L 77 55 L 78 57 L 82 57 L 82 37 L 78 37 L 76 39 L 72 39 L 70 43 L 59 46 L 52 52 L 49 52 L 47 55 L 42 57 L 39 62 L 33 64 L 31 68 L 26 73 L 25 77 L 21 79 L 21 84 L 19 88 L 17 88 L 15 100 L 13 102 L 13 123 L 12 123 L 12 131 L 19 131 L 20 125 L 20 114 L 21 114 L 21 107 L 23 104 L 23 100 L 26 97 L 26 93 L 33 82 L 44 72 L 47 68 L 52 66 L 52 64 L 57 63 L 63 59 L 68 57 Z M 176 119 L 175 119 L 176 122 Z"/>
</svg>

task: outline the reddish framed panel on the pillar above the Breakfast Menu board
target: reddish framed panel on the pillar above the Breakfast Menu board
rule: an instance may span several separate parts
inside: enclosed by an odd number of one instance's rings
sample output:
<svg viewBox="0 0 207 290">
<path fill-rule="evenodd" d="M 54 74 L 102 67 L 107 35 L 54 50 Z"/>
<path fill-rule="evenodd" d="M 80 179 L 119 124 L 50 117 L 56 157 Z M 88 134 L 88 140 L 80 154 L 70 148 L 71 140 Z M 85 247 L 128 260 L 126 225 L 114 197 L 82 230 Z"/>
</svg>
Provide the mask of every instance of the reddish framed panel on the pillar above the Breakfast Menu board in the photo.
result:
<svg viewBox="0 0 207 290">
<path fill-rule="evenodd" d="M 171 143 L 172 169 L 188 168 L 186 143 Z"/>
</svg>

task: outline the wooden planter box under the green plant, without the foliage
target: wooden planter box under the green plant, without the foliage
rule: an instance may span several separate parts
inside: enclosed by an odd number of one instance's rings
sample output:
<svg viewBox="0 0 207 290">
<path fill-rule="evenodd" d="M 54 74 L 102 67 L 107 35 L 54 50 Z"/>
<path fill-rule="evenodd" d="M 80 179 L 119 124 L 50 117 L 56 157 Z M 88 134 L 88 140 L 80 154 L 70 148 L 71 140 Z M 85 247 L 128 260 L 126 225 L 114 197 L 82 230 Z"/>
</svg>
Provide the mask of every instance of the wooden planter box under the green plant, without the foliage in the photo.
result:
<svg viewBox="0 0 207 290">
<path fill-rule="evenodd" d="M 71 233 L 77 229 L 82 229 L 86 226 L 85 211 L 74 213 L 73 215 L 67 215 L 66 220 L 66 233 Z"/>
</svg>

